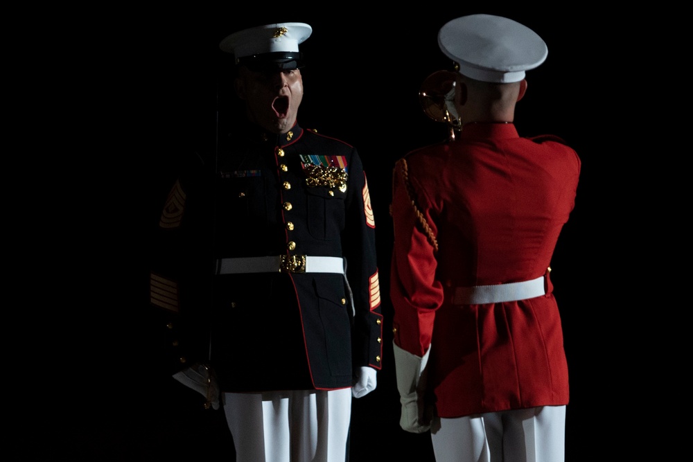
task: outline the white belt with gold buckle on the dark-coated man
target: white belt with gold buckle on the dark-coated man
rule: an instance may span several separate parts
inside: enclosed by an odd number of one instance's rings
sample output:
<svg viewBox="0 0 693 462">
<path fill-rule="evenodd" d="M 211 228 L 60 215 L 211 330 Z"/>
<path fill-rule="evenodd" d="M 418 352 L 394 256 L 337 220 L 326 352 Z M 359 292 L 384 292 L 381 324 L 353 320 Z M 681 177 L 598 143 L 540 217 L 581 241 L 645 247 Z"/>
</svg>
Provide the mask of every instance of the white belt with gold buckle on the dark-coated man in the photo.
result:
<svg viewBox="0 0 693 462">
<path fill-rule="evenodd" d="M 339 273 L 344 274 L 344 259 L 277 255 L 265 257 L 220 258 L 216 274 L 241 273 Z"/>
</svg>

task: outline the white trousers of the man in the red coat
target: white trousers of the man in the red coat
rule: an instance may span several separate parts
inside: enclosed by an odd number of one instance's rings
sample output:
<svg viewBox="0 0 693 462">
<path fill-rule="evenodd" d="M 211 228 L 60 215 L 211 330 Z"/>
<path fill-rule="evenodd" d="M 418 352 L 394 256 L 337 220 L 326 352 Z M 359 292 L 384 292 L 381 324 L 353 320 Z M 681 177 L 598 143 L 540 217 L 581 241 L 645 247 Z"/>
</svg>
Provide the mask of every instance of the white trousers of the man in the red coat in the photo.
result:
<svg viewBox="0 0 693 462">
<path fill-rule="evenodd" d="M 436 462 L 563 462 L 565 406 L 441 418 Z"/>
</svg>

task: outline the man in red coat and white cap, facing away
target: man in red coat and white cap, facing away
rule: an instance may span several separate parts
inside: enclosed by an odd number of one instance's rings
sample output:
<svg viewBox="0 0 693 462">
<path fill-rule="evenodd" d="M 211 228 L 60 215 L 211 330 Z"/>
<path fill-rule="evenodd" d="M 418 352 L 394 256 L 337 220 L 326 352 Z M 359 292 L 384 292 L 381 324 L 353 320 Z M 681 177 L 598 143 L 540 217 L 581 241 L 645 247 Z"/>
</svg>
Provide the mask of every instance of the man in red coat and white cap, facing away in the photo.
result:
<svg viewBox="0 0 693 462">
<path fill-rule="evenodd" d="M 439 31 L 459 66 L 452 141 L 393 172 L 391 296 L 401 426 L 430 429 L 440 461 L 561 461 L 568 366 L 550 265 L 580 159 L 519 136 L 515 103 L 543 40 L 471 15 Z"/>
</svg>

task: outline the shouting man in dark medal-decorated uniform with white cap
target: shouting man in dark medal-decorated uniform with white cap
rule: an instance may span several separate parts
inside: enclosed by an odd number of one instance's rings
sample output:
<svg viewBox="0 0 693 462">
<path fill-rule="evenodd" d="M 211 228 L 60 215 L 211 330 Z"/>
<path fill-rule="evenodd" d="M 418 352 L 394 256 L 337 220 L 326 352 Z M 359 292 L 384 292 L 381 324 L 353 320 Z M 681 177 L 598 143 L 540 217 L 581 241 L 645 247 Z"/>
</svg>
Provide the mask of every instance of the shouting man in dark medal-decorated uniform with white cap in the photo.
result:
<svg viewBox="0 0 693 462">
<path fill-rule="evenodd" d="M 186 242 L 166 247 L 188 249 L 152 272 L 171 372 L 221 402 L 239 461 L 344 460 L 351 398 L 380 369 L 361 159 L 297 123 L 311 31 L 269 24 L 222 41 L 248 120 L 228 127 L 216 166 L 184 168 L 161 215 L 161 239 Z"/>
</svg>

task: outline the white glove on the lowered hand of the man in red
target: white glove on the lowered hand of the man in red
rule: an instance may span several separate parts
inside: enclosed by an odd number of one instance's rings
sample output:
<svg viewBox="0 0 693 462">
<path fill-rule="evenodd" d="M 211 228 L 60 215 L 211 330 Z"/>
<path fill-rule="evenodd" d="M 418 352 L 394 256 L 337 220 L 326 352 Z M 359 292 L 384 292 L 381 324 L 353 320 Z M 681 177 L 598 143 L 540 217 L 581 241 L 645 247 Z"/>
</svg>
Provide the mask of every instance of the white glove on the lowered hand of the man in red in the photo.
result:
<svg viewBox="0 0 693 462">
<path fill-rule="evenodd" d="M 423 357 L 412 355 L 407 350 L 392 344 L 397 377 L 397 390 L 402 405 L 399 426 L 407 432 L 424 433 L 430 429 L 432 409 L 426 409 L 423 392 L 426 389 L 428 355 L 430 346 Z"/>
</svg>

